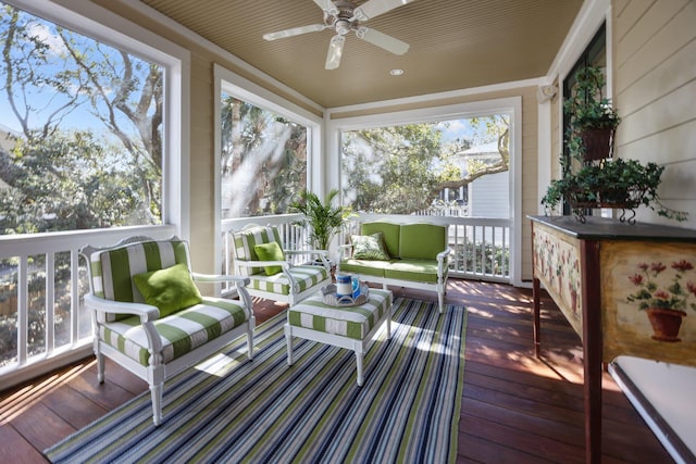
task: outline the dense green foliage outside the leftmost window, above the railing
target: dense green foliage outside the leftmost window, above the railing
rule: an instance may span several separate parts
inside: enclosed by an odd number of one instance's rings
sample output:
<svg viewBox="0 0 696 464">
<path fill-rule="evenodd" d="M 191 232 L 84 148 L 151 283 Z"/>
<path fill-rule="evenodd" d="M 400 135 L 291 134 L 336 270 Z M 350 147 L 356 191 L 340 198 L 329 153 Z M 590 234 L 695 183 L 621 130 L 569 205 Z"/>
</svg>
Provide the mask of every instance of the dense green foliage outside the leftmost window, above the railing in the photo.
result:
<svg viewBox="0 0 696 464">
<path fill-rule="evenodd" d="M 150 223 L 142 178 L 157 173 L 123 164 L 90 133 L 54 131 L 0 152 L 9 188 L 0 196 L 0 231 L 30 234 Z M 148 172 L 149 171 L 149 172 Z M 158 190 L 159 190 L 159 185 Z M 159 208 L 159 206 L 157 206 Z"/>
</svg>

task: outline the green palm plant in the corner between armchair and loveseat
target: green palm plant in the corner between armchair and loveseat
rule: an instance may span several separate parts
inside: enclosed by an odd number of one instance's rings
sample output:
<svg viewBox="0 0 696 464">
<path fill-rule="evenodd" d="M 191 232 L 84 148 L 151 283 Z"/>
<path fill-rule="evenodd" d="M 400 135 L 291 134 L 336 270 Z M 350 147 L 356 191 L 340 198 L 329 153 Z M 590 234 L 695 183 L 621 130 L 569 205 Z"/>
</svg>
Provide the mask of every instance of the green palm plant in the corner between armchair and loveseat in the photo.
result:
<svg viewBox="0 0 696 464">
<path fill-rule="evenodd" d="M 332 203 L 338 196 L 337 189 L 332 189 L 325 200 L 309 190 L 302 190 L 299 198 L 290 203 L 290 209 L 304 215 L 301 224 L 310 226 L 309 240 L 316 250 L 328 250 L 334 235 L 340 230 L 344 222 L 352 214 L 349 206 L 334 206 Z"/>
</svg>

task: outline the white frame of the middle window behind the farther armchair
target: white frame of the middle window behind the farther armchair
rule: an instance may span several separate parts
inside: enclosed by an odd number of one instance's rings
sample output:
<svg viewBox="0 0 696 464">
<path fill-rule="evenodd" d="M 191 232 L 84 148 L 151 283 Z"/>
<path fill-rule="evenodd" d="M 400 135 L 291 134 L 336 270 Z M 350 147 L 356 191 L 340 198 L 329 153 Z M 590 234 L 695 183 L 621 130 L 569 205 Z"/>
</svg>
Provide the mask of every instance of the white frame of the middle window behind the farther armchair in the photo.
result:
<svg viewBox="0 0 696 464">
<path fill-rule="evenodd" d="M 320 186 L 314 180 L 320 177 L 320 171 L 316 170 L 316 160 L 321 160 L 322 147 L 322 116 L 318 116 L 303 108 L 293 103 L 291 101 L 273 93 L 272 91 L 261 87 L 251 80 L 219 65 L 213 65 L 213 113 L 214 113 L 214 166 L 215 166 L 215 189 L 214 189 L 214 268 L 220 269 L 222 266 L 222 174 L 220 172 L 220 163 L 222 162 L 222 93 L 227 93 L 251 103 L 258 108 L 287 117 L 298 124 L 307 127 L 307 188 L 315 190 Z"/>
</svg>

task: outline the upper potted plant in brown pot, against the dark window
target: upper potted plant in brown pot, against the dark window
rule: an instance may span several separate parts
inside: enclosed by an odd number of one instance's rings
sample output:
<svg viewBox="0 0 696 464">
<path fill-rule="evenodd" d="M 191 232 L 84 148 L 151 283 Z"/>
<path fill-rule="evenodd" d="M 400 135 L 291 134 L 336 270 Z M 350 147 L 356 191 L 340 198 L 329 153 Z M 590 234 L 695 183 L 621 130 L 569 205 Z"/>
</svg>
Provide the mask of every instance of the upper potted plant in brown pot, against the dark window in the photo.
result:
<svg viewBox="0 0 696 464">
<path fill-rule="evenodd" d="M 563 103 L 570 154 L 581 161 L 611 158 L 613 152 L 613 135 L 621 118 L 604 96 L 605 85 L 600 67 L 585 66 L 575 73 L 575 84 Z"/>
</svg>

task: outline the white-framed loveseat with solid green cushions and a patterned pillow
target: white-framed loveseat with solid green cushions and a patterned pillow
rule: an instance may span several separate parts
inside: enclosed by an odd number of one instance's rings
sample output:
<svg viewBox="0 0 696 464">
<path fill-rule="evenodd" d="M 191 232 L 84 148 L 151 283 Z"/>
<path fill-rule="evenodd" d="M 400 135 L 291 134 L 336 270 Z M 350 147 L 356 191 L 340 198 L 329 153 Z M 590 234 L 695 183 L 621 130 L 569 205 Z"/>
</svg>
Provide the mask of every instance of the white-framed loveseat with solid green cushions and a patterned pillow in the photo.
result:
<svg viewBox="0 0 696 464">
<path fill-rule="evenodd" d="M 446 226 L 371 222 L 361 224 L 360 234 L 344 246 L 340 273 L 385 289 L 397 285 L 435 290 L 439 312 L 444 311 L 450 253 Z"/>
</svg>

